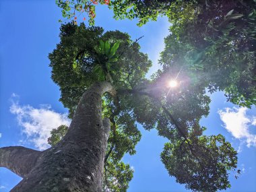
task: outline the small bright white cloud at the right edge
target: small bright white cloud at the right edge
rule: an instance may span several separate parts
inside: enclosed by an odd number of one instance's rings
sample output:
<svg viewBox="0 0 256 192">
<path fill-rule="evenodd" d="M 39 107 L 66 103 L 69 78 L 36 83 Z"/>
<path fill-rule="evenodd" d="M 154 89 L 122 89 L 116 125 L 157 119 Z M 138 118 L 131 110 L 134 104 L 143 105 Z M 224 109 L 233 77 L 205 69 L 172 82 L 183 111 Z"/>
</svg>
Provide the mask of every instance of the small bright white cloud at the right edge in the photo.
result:
<svg viewBox="0 0 256 192">
<path fill-rule="evenodd" d="M 218 110 L 224 127 L 236 138 L 246 141 L 247 147 L 256 147 L 256 135 L 249 132 L 250 125 L 256 125 L 255 117 L 246 114 L 248 108 L 225 108 Z"/>
</svg>

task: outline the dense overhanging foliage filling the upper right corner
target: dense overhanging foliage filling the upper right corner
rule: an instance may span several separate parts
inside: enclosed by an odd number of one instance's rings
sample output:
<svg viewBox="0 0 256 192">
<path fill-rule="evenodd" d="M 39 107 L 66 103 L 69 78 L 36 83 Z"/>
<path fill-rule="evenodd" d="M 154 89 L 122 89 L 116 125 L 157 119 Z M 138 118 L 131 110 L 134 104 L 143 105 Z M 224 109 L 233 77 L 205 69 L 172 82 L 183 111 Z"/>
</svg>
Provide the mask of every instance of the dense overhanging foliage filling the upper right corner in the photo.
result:
<svg viewBox="0 0 256 192">
<path fill-rule="evenodd" d="M 211 93 L 222 90 L 230 102 L 250 108 L 256 103 L 255 4 L 116 0 L 110 7 L 115 18 L 139 18 L 139 26 L 166 15 L 172 25 L 162 53 L 164 67 L 189 67 Z"/>
</svg>

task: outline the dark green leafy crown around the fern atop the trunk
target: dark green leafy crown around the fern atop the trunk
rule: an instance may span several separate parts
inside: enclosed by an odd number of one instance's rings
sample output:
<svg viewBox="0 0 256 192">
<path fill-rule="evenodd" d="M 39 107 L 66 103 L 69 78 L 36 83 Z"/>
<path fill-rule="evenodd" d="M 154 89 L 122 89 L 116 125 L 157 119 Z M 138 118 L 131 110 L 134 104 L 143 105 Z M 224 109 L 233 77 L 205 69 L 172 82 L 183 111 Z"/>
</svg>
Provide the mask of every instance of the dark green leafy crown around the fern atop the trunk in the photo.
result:
<svg viewBox="0 0 256 192">
<path fill-rule="evenodd" d="M 61 99 L 69 108 L 69 117 L 73 116 L 80 96 L 94 82 L 102 81 L 102 75 L 95 70 L 98 58 L 106 55 L 97 53 L 100 39 L 108 41 L 111 47 L 119 42 L 114 61 L 107 67 L 107 61 L 100 61 L 104 73 L 109 73 L 115 88 L 133 88 L 145 79 L 144 75 L 152 63 L 148 56 L 139 52 L 139 44 L 132 42 L 128 34 L 110 31 L 103 34 L 99 27 L 86 28 L 84 24 L 73 23 L 61 26 L 61 43 L 49 54 L 50 66 L 53 68 L 52 79 L 60 86 Z M 107 43 L 107 44 L 108 44 Z M 118 61 L 116 56 L 119 55 Z M 113 59 L 113 58 L 111 58 Z M 104 67 L 106 66 L 106 67 Z M 110 71 L 108 71 L 110 69 Z M 138 69 L 138 70 L 135 70 Z"/>
</svg>

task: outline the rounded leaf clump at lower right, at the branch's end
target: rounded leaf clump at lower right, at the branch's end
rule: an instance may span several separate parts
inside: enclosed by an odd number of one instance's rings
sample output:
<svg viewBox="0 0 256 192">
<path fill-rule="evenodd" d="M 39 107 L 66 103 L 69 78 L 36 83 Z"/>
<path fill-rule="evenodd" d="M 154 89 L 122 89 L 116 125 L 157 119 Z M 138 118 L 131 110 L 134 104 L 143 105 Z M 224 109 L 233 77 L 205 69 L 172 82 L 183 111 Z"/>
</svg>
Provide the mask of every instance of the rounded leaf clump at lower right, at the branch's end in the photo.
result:
<svg viewBox="0 0 256 192">
<path fill-rule="evenodd" d="M 237 163 L 237 153 L 231 144 L 222 135 L 191 137 L 189 141 L 190 144 L 180 140 L 164 145 L 161 158 L 169 174 L 193 191 L 230 187 L 227 170 Z"/>
</svg>

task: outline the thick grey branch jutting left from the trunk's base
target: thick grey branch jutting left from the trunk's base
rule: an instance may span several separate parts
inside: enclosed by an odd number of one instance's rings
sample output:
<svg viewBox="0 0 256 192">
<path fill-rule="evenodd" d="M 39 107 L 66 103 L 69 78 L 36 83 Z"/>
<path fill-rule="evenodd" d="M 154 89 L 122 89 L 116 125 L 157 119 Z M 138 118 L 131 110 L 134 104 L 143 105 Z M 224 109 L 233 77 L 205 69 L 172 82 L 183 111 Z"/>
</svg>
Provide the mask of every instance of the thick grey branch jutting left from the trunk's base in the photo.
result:
<svg viewBox="0 0 256 192">
<path fill-rule="evenodd" d="M 24 147 L 0 148 L 0 167 L 8 168 L 24 178 L 34 168 L 40 154 L 42 152 Z"/>
</svg>

